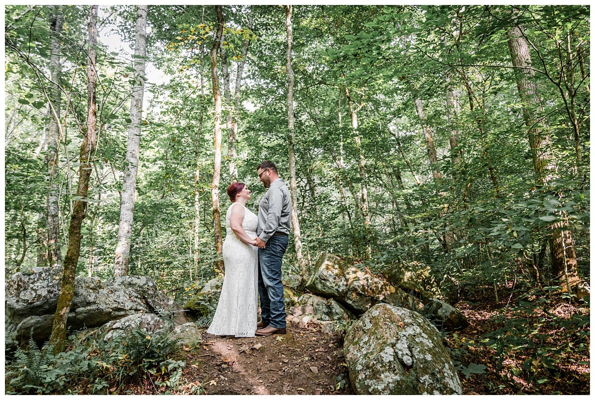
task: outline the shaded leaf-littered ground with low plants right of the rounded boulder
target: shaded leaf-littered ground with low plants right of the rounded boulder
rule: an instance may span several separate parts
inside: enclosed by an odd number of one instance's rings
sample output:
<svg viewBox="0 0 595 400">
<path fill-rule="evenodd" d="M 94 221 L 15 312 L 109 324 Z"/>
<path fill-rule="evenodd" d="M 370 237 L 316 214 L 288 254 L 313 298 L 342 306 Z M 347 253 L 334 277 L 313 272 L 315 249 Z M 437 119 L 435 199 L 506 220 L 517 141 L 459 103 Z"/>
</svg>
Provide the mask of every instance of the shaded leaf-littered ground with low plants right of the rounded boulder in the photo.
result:
<svg viewBox="0 0 595 400">
<path fill-rule="evenodd" d="M 469 320 L 445 337 L 464 394 L 588 395 L 590 307 L 549 292 L 478 288 L 456 307 Z"/>
</svg>

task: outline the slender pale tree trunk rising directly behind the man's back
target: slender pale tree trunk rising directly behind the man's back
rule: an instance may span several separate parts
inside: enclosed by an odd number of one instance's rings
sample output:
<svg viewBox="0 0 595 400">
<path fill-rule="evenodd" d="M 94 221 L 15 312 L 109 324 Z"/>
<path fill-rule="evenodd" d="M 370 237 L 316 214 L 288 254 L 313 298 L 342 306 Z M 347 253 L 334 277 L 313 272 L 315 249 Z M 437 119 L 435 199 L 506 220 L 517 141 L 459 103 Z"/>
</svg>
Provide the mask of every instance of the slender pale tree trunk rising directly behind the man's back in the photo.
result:
<svg viewBox="0 0 595 400">
<path fill-rule="evenodd" d="M 297 218 L 297 178 L 296 178 L 296 155 L 295 155 L 295 130 L 294 117 L 293 117 L 293 69 L 292 69 L 292 45 L 293 45 L 293 29 L 292 29 L 292 11 L 291 5 L 285 6 L 285 26 L 287 30 L 287 52 L 286 52 L 286 65 L 287 65 L 287 78 L 289 84 L 287 86 L 287 118 L 289 128 L 289 186 L 291 189 L 292 196 L 292 227 L 293 227 L 293 242 L 295 243 L 297 264 L 300 270 L 300 283 L 299 286 L 303 287 L 306 285 L 306 279 L 308 278 L 308 262 L 303 258 L 302 254 L 302 234 L 299 229 L 299 218 Z"/>
</svg>

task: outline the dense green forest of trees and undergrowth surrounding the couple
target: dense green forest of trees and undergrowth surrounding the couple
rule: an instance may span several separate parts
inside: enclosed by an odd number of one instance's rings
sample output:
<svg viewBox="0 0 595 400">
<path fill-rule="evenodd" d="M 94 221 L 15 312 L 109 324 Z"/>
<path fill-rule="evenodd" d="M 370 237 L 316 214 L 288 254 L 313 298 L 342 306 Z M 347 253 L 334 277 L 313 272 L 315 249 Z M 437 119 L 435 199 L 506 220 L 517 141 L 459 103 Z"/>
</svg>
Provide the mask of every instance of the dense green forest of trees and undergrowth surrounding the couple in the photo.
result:
<svg viewBox="0 0 595 400">
<path fill-rule="evenodd" d="M 471 323 L 443 332 L 464 394 L 590 393 L 588 5 L 4 11 L 5 280 L 62 271 L 55 360 L 83 357 L 77 277 L 148 276 L 184 305 L 223 276 L 227 186 L 256 212 L 271 160 L 293 201 L 286 287 L 324 253 L 414 271 Z M 13 360 L 45 354 L 25 347 Z M 157 350 L 177 386 L 95 349 L 102 380 L 7 359 L 7 393 L 211 393 Z"/>
</svg>

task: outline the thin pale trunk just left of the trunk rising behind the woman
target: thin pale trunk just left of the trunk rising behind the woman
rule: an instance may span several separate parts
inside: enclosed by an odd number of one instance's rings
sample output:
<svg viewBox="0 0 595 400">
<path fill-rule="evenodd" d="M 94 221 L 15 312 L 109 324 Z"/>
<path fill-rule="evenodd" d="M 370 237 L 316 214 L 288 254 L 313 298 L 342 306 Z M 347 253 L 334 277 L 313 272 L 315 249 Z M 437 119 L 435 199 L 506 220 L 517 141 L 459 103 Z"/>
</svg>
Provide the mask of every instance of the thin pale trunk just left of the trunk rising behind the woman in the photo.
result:
<svg viewBox="0 0 595 400">
<path fill-rule="evenodd" d="M 201 23 L 204 22 L 205 18 L 205 6 L 202 6 L 202 20 Z M 201 43 L 201 111 L 199 112 L 198 117 L 198 131 L 196 132 L 195 142 L 194 142 L 194 158 L 195 158 L 195 173 L 194 173 L 194 226 L 193 226 L 193 235 L 194 235 L 194 251 L 193 251 L 193 262 L 194 262 L 194 279 L 195 282 L 198 282 L 198 264 L 201 258 L 201 185 L 200 185 L 200 178 L 201 178 L 201 168 L 202 168 L 202 161 L 201 161 L 201 138 L 202 138 L 202 121 L 205 115 L 205 74 L 204 74 L 204 62 L 203 62 L 203 54 L 204 54 L 204 45 Z"/>
</svg>

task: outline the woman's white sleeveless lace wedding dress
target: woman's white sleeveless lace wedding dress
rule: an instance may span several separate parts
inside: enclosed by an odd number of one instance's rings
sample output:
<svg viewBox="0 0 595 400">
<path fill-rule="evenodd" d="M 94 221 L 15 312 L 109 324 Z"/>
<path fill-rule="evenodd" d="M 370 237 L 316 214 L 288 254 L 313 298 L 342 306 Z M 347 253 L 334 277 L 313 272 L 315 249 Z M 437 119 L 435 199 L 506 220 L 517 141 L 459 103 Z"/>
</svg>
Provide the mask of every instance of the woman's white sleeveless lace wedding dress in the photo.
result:
<svg viewBox="0 0 595 400">
<path fill-rule="evenodd" d="M 256 331 L 258 307 L 258 248 L 242 242 L 231 230 L 229 218 L 232 207 L 244 206 L 233 203 L 227 209 L 227 235 L 223 242 L 223 288 L 217 311 L 206 332 L 212 335 L 252 337 Z M 248 236 L 255 238 L 258 217 L 248 208 L 244 207 L 244 210 L 242 228 Z"/>
</svg>

